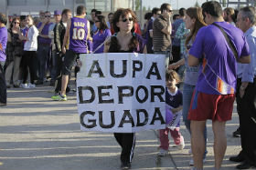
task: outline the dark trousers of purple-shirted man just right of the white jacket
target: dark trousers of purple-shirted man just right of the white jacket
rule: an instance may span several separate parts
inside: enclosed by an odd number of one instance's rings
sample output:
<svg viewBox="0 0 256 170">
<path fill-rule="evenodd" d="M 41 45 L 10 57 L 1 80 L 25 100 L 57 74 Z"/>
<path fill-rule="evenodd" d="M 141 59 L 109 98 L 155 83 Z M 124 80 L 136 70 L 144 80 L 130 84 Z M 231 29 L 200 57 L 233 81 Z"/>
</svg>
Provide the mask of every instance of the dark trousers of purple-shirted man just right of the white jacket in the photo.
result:
<svg viewBox="0 0 256 170">
<path fill-rule="evenodd" d="M 40 81 L 44 81 L 44 77 L 46 75 L 46 69 L 48 67 L 47 61 L 49 58 L 49 45 L 38 45 L 37 49 L 37 57 L 39 61 L 39 79 Z"/>
</svg>

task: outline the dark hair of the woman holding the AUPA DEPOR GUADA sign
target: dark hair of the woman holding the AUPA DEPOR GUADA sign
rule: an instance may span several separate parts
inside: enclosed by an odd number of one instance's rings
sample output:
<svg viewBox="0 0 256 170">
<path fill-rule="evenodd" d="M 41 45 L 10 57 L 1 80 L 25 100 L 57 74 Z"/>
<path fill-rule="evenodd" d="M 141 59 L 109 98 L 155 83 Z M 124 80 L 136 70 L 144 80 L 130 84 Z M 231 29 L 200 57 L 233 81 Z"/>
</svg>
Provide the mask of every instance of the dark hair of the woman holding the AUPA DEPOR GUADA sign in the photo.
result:
<svg viewBox="0 0 256 170">
<path fill-rule="evenodd" d="M 113 14 L 112 18 L 112 25 L 113 25 L 113 30 L 115 33 L 118 33 L 120 31 L 119 27 L 116 25 L 119 22 L 120 17 L 124 18 L 126 15 L 131 14 L 133 17 L 133 28 L 132 28 L 132 33 L 135 30 L 135 23 L 137 22 L 137 17 L 134 15 L 133 11 L 129 8 L 119 8 L 116 10 L 116 12 Z"/>
</svg>

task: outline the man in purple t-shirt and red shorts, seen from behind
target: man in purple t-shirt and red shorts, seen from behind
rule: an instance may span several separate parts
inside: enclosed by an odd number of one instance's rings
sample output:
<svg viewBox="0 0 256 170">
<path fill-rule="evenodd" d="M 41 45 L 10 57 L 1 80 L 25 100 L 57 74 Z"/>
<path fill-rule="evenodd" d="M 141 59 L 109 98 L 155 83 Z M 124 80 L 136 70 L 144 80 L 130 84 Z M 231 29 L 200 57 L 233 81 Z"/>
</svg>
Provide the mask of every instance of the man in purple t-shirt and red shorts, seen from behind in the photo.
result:
<svg viewBox="0 0 256 170">
<path fill-rule="evenodd" d="M 204 130 L 207 119 L 212 120 L 214 132 L 215 169 L 219 170 L 227 148 L 225 125 L 231 119 L 236 88 L 236 63 L 250 63 L 249 46 L 239 28 L 226 23 L 221 5 L 210 1 L 202 5 L 208 26 L 199 29 L 189 50 L 188 65 L 200 66 L 197 85 L 191 100 L 188 119 L 191 120 L 191 145 L 194 169 L 203 169 L 205 152 Z M 237 57 L 229 47 L 224 30 Z"/>
</svg>

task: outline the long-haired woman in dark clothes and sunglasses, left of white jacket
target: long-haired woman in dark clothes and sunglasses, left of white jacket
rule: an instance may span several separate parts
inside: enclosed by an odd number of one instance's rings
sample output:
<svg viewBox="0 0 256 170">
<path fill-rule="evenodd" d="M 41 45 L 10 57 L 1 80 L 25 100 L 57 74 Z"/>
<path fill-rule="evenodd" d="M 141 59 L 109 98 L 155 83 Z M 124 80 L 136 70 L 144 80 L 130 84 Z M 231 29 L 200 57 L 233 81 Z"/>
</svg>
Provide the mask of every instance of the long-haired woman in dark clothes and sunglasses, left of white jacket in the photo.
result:
<svg viewBox="0 0 256 170">
<path fill-rule="evenodd" d="M 13 80 L 13 85 L 19 87 L 18 76 L 23 51 L 22 42 L 18 38 L 18 32 L 20 31 L 19 25 L 19 18 L 14 18 L 8 29 L 7 58 L 5 62 L 5 81 L 7 88 L 11 87 L 11 79 Z"/>
</svg>

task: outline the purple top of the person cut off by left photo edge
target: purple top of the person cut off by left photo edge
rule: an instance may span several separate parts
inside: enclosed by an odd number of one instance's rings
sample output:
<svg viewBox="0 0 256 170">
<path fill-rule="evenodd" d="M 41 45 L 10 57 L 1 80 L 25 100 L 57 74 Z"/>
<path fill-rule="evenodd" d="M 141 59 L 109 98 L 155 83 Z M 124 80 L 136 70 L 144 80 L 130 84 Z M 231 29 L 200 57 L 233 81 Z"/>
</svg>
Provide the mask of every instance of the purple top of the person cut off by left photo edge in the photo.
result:
<svg viewBox="0 0 256 170">
<path fill-rule="evenodd" d="M 4 62 L 6 59 L 5 49 L 7 45 L 7 28 L 0 27 L 0 61 Z"/>
</svg>

